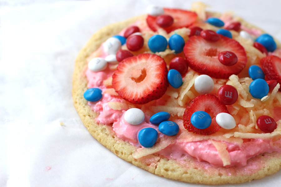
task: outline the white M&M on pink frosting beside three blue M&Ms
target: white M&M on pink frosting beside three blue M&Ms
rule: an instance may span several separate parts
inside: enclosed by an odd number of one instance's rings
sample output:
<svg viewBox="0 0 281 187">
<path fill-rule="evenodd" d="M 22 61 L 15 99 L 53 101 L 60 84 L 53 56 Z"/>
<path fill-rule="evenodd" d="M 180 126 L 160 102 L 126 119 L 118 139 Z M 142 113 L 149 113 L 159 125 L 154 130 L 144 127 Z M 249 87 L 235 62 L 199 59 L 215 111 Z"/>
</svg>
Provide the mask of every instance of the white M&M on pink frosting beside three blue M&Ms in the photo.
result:
<svg viewBox="0 0 281 187">
<path fill-rule="evenodd" d="M 144 118 L 144 113 L 141 109 L 138 108 L 130 108 L 125 112 L 124 115 L 124 120 L 132 125 L 140 124 L 141 122 L 143 122 Z"/>
</svg>

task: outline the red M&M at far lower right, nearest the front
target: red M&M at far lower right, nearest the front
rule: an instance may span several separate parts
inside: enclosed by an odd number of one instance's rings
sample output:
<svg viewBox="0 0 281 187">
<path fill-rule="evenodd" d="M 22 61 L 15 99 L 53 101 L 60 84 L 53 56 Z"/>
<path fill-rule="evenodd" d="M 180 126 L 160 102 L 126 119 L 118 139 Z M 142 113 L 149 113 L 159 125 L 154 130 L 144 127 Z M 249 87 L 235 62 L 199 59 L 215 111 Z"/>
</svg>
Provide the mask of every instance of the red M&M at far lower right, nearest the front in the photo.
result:
<svg viewBox="0 0 281 187">
<path fill-rule="evenodd" d="M 266 115 L 260 116 L 257 119 L 257 125 L 259 129 L 265 133 L 273 132 L 277 127 L 275 120 L 272 117 Z"/>
</svg>

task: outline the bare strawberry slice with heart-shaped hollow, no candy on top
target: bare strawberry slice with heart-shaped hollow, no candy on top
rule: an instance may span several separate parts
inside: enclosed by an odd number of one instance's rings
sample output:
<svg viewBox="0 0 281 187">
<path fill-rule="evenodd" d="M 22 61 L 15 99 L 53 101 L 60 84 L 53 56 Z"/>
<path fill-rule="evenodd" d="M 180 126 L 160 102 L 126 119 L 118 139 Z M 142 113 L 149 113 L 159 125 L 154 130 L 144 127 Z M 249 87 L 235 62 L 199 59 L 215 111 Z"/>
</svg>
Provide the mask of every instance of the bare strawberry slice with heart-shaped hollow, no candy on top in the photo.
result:
<svg viewBox="0 0 281 187">
<path fill-rule="evenodd" d="M 169 85 L 163 58 L 149 53 L 124 59 L 112 75 L 112 86 L 119 96 L 134 104 L 159 99 Z"/>
</svg>

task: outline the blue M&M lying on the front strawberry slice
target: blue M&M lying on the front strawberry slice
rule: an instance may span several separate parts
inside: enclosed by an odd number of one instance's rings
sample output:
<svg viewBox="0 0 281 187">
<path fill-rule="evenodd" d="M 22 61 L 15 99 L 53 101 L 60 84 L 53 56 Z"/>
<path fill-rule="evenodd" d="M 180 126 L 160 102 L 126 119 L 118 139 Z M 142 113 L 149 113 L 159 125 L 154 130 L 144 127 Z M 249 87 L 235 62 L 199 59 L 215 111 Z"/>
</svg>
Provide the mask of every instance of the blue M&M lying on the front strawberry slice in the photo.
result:
<svg viewBox="0 0 281 187">
<path fill-rule="evenodd" d="M 211 125 L 212 118 L 205 111 L 196 111 L 191 115 L 190 122 L 196 128 L 205 129 Z"/>
</svg>

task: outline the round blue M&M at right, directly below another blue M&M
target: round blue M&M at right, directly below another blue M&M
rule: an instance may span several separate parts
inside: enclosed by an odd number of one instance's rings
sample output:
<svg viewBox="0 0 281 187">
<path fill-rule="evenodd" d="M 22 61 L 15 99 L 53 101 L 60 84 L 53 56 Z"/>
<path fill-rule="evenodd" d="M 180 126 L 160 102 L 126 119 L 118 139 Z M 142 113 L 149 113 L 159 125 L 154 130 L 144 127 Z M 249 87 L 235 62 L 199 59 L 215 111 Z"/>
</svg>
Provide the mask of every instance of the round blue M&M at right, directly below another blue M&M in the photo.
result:
<svg viewBox="0 0 281 187">
<path fill-rule="evenodd" d="M 249 86 L 249 92 L 254 98 L 261 99 L 269 92 L 269 86 L 264 79 L 255 79 Z"/>
</svg>

